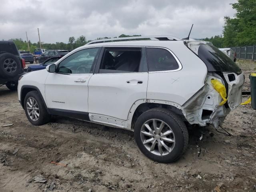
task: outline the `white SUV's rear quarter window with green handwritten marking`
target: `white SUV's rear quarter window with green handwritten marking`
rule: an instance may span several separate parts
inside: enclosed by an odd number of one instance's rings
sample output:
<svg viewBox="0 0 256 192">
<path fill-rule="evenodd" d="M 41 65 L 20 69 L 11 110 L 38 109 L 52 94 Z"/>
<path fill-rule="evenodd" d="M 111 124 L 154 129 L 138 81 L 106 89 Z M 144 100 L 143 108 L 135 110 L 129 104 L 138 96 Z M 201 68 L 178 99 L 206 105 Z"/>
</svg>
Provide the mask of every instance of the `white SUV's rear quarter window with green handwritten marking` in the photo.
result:
<svg viewBox="0 0 256 192">
<path fill-rule="evenodd" d="M 149 71 L 169 71 L 179 68 L 179 64 L 172 54 L 162 48 L 147 48 Z"/>
</svg>

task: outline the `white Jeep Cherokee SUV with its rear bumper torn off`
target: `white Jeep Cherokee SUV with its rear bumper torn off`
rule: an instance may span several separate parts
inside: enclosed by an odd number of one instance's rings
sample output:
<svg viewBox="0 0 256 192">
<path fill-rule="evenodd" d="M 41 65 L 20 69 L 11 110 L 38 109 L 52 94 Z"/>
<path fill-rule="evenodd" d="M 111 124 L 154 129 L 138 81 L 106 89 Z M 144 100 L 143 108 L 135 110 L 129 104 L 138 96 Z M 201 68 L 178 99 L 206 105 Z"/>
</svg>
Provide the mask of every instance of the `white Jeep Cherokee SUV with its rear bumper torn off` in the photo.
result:
<svg viewBox="0 0 256 192">
<path fill-rule="evenodd" d="M 226 104 L 212 79 L 226 87 Z M 243 83 L 241 69 L 209 42 L 146 36 L 77 48 L 22 76 L 18 97 L 33 125 L 59 115 L 132 130 L 142 153 L 167 163 L 185 151 L 187 126 L 221 125 L 240 105 Z"/>
</svg>

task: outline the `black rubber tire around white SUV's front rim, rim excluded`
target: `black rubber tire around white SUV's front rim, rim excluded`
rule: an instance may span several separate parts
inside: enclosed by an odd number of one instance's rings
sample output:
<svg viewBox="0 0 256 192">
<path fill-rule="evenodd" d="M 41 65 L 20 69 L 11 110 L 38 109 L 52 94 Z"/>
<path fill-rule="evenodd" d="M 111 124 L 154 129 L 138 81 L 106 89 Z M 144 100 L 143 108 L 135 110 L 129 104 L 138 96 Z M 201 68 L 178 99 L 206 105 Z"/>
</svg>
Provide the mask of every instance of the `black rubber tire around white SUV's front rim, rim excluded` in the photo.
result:
<svg viewBox="0 0 256 192">
<path fill-rule="evenodd" d="M 28 114 L 27 102 L 29 101 L 29 98 L 33 98 L 34 100 L 36 100 L 36 102 L 38 104 L 38 108 L 39 108 L 38 120 L 32 120 Z M 26 94 L 25 99 L 24 99 L 24 110 L 26 112 L 26 116 L 27 116 L 28 120 L 33 125 L 40 126 L 40 125 L 48 123 L 51 119 L 51 116 L 48 114 L 48 112 L 44 106 L 44 101 L 41 99 L 41 97 L 37 91 L 30 91 Z"/>
</svg>

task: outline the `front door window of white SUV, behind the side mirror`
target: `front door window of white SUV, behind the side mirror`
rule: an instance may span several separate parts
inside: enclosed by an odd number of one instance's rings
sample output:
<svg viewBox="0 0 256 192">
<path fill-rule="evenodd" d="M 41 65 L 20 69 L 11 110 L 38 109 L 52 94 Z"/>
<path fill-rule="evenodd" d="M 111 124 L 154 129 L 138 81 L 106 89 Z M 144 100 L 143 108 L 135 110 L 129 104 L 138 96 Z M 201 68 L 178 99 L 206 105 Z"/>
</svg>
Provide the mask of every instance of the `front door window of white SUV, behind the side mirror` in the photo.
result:
<svg viewBox="0 0 256 192">
<path fill-rule="evenodd" d="M 75 52 L 58 64 L 57 72 L 65 74 L 92 73 L 92 66 L 99 50 L 99 48 L 88 48 Z"/>
</svg>

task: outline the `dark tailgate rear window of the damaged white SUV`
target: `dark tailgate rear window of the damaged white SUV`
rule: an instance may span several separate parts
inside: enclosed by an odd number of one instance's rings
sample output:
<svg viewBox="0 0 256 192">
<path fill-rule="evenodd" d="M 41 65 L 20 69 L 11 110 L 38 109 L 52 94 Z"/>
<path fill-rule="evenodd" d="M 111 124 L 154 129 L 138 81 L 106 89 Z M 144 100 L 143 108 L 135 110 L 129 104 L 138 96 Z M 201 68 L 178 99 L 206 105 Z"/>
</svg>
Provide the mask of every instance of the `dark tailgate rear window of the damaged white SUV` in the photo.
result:
<svg viewBox="0 0 256 192">
<path fill-rule="evenodd" d="M 206 64 L 208 71 L 242 73 L 242 70 L 234 61 L 212 45 L 200 45 L 198 48 L 198 56 Z"/>
</svg>

